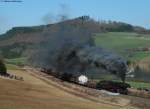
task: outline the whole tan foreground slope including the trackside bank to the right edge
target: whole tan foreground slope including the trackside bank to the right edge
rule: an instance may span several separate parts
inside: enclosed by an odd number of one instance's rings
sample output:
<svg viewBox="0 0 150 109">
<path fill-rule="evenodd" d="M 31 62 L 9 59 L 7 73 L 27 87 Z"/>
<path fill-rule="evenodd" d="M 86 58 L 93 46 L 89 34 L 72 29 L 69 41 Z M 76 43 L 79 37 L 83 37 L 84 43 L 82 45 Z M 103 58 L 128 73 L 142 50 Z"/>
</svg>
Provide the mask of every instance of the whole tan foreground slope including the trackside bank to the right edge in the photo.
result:
<svg viewBox="0 0 150 109">
<path fill-rule="evenodd" d="M 0 77 L 0 87 L 3 87 L 0 90 L 2 109 L 58 109 L 60 107 L 62 109 L 139 109 L 143 105 L 145 109 L 149 109 L 149 99 L 122 95 L 116 97 L 102 95 L 103 99 L 99 98 L 101 95 L 92 97 L 59 85 L 48 79 L 48 76 L 39 75 L 34 70 L 20 69 L 15 66 L 14 68 L 9 68 L 9 72 L 22 76 L 24 81 Z"/>
</svg>

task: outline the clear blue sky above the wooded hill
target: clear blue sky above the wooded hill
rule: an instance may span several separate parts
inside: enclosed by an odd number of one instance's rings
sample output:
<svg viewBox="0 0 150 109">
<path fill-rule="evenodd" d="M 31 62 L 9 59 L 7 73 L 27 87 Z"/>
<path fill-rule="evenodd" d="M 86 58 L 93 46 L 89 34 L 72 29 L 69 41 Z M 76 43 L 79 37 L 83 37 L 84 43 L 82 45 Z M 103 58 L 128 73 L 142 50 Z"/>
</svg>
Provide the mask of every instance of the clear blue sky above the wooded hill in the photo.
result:
<svg viewBox="0 0 150 109">
<path fill-rule="evenodd" d="M 1 1 L 1 0 L 0 0 Z M 90 15 L 95 19 L 115 20 L 150 28 L 150 0 L 22 0 L 0 2 L 0 33 L 14 26 L 45 24 L 45 16 L 66 11 L 71 18 Z M 62 4 L 65 9 L 62 10 Z"/>
</svg>

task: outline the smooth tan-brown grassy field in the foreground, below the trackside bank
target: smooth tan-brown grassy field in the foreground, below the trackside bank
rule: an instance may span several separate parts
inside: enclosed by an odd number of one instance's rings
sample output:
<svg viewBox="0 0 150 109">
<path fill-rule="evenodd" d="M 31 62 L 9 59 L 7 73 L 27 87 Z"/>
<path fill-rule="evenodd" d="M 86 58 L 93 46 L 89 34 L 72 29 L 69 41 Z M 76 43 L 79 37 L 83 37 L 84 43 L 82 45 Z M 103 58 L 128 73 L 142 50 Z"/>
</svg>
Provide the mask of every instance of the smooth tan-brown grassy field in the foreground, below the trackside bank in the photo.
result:
<svg viewBox="0 0 150 109">
<path fill-rule="evenodd" d="M 116 109 L 67 93 L 30 75 L 24 70 L 10 70 L 24 81 L 0 78 L 0 109 Z"/>
</svg>

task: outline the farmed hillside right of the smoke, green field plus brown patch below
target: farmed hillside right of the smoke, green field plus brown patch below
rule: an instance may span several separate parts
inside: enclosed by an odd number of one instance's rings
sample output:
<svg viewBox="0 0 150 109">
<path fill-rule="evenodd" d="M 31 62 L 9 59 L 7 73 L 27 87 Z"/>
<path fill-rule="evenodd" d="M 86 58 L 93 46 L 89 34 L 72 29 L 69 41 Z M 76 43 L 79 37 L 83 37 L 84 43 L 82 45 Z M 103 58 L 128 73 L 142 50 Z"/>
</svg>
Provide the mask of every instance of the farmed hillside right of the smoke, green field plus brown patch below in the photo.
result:
<svg viewBox="0 0 150 109">
<path fill-rule="evenodd" d="M 97 46 L 120 54 L 135 68 L 135 78 L 140 81 L 150 80 L 150 34 L 131 32 L 108 32 L 95 36 Z"/>
</svg>

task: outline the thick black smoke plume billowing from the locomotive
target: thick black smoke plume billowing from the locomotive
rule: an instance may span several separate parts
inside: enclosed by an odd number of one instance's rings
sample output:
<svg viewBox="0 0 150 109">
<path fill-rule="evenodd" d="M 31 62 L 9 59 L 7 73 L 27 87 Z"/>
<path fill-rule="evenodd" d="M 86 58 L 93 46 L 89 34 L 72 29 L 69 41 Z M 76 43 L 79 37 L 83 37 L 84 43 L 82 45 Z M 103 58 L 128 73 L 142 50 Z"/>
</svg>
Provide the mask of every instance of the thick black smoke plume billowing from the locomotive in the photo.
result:
<svg viewBox="0 0 150 109">
<path fill-rule="evenodd" d="M 100 32 L 96 21 L 88 16 L 51 25 L 43 33 L 43 42 L 30 57 L 32 64 L 55 72 L 82 74 L 90 69 L 104 69 L 123 81 L 126 61 L 116 54 L 96 47 L 93 33 Z"/>
</svg>

